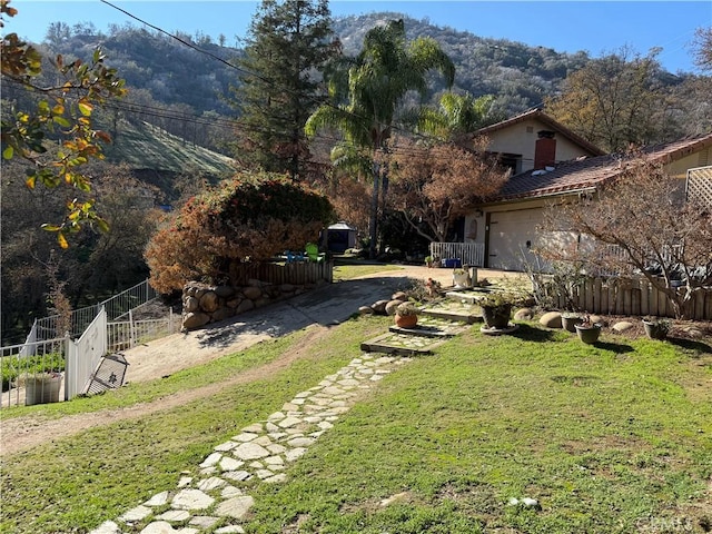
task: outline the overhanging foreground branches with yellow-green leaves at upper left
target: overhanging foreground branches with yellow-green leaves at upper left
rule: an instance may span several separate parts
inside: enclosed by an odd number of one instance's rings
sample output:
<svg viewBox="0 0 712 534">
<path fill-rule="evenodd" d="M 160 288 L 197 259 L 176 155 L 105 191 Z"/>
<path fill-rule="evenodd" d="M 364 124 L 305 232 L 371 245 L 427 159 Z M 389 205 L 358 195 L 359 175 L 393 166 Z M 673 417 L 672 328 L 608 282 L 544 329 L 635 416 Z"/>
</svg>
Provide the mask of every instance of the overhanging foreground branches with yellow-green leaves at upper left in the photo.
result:
<svg viewBox="0 0 712 534">
<path fill-rule="evenodd" d="M 17 12 L 9 0 L 0 0 L 0 16 L 14 17 Z M 0 19 L 0 28 L 3 26 Z M 67 235 L 86 224 L 101 230 L 108 228 L 93 200 L 86 198 L 91 182 L 80 168 L 91 158 L 103 157 L 101 142 L 109 142 L 110 137 L 92 126 L 91 116 L 95 107 L 107 98 L 126 93 L 123 80 L 105 65 L 106 57 L 98 49 L 87 63 L 79 59 L 67 62 L 57 56 L 53 66 L 60 81 L 52 87 L 36 82 L 42 73 L 42 57 L 17 33 L 3 36 L 1 52 L 2 82 L 17 83 L 39 95 L 34 109 L 3 112 L 2 158 L 10 160 L 18 156 L 31 164 L 26 180 L 30 189 L 38 182 L 50 189 L 68 187 L 65 219 L 43 226 L 56 231 L 59 245 L 67 248 Z M 50 136 L 61 138 L 61 149 L 46 158 Z"/>
</svg>

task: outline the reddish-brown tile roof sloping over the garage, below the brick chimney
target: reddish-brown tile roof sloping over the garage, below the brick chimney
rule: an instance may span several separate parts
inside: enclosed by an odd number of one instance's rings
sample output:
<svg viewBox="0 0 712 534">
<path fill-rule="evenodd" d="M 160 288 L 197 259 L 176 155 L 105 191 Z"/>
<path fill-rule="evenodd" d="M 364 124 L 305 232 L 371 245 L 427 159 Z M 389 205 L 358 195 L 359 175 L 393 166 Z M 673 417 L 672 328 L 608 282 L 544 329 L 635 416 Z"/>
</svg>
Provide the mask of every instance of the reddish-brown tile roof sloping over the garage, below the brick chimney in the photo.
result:
<svg viewBox="0 0 712 534">
<path fill-rule="evenodd" d="M 642 149 L 650 161 L 668 164 L 712 147 L 712 132 Z M 564 161 L 545 174 L 528 170 L 510 178 L 494 201 L 540 198 L 592 189 L 625 170 L 632 156 L 605 155 Z"/>
</svg>

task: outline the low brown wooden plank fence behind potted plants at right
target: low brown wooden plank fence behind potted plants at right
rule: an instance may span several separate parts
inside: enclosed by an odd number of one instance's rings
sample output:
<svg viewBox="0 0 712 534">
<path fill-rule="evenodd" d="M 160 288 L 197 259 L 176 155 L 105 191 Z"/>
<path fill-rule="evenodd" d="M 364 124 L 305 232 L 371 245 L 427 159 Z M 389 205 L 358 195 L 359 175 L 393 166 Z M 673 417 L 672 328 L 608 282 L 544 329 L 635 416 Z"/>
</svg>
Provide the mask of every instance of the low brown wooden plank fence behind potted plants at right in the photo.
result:
<svg viewBox="0 0 712 534">
<path fill-rule="evenodd" d="M 675 315 L 668 296 L 645 278 L 585 278 L 566 290 L 552 289 L 553 304 L 561 309 L 573 305 L 575 309 L 590 314 L 656 317 Z M 700 288 L 693 293 L 685 306 L 685 317 L 712 320 L 712 288 Z"/>
</svg>

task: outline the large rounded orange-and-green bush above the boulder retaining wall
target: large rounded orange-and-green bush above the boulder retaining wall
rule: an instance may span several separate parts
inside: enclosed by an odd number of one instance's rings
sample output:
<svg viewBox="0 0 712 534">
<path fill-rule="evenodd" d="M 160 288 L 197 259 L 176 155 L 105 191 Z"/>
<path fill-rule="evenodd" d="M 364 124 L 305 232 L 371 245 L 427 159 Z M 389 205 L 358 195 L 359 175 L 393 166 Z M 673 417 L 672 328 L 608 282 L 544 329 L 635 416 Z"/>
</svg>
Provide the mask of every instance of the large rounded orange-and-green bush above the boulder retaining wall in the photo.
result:
<svg viewBox="0 0 712 534">
<path fill-rule="evenodd" d="M 328 199 L 281 175 L 238 175 L 190 198 L 150 240 L 150 284 L 225 283 L 230 265 L 303 249 L 334 220 Z"/>
</svg>

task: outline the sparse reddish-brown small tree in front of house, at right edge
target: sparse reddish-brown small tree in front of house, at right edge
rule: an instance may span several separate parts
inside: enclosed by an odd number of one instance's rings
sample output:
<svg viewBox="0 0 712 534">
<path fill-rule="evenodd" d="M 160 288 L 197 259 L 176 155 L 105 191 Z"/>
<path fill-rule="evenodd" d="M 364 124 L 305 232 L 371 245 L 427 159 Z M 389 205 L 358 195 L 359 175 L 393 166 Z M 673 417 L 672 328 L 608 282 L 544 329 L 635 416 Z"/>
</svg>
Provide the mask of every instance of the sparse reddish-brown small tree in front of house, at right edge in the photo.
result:
<svg viewBox="0 0 712 534">
<path fill-rule="evenodd" d="M 625 165 L 597 198 L 545 210 L 554 237 L 537 253 L 589 273 L 644 276 L 684 317 L 693 294 L 712 284 L 712 206 L 685 198 L 684 180 L 659 162 L 639 155 Z"/>
</svg>

